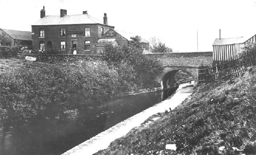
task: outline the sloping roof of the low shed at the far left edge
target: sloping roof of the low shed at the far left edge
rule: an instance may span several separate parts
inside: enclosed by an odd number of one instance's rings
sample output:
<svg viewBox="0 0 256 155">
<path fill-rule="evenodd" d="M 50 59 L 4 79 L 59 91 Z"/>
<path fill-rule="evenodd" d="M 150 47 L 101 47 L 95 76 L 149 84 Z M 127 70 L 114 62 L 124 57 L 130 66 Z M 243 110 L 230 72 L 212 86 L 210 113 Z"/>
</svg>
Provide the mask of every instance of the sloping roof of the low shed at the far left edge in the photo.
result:
<svg viewBox="0 0 256 155">
<path fill-rule="evenodd" d="M 9 36 L 11 36 L 13 39 L 18 40 L 32 40 L 31 32 L 29 31 L 17 31 L 17 30 L 6 30 L 2 29 L 4 32 L 6 32 Z"/>
</svg>

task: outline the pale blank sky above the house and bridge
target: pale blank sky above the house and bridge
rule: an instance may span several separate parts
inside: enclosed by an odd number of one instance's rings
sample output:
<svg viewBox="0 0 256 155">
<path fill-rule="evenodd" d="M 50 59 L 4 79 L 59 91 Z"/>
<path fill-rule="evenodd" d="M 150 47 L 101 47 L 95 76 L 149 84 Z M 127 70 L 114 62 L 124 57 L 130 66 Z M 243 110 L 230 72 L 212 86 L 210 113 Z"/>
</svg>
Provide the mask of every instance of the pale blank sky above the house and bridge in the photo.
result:
<svg viewBox="0 0 256 155">
<path fill-rule="evenodd" d="M 256 34 L 256 0 L 0 0 L 0 28 L 31 31 L 45 6 L 46 16 L 88 14 L 116 30 L 149 40 L 156 36 L 174 51 L 212 51 L 222 38 Z"/>
</svg>

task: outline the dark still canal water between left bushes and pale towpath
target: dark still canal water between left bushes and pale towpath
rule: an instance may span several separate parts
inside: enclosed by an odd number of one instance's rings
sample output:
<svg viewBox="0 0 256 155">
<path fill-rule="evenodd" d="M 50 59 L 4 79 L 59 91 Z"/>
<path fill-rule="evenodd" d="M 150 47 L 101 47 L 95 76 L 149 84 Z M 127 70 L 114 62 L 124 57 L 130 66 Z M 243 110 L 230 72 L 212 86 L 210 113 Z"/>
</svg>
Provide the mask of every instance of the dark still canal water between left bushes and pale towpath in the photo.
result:
<svg viewBox="0 0 256 155">
<path fill-rule="evenodd" d="M 95 103 L 92 107 L 55 114 L 48 119 L 0 122 L 0 155 L 60 155 L 84 141 L 94 139 L 99 133 L 106 135 L 103 131 L 113 131 L 116 124 L 165 100 L 174 91 L 176 93 L 172 97 L 180 95 L 177 100 L 185 99 L 184 94 L 191 94 L 193 85 L 182 84 L 178 90 L 179 93 L 172 89 L 125 96 Z M 178 103 L 172 102 L 167 103 L 167 107 L 162 107 L 159 112 Z"/>
</svg>

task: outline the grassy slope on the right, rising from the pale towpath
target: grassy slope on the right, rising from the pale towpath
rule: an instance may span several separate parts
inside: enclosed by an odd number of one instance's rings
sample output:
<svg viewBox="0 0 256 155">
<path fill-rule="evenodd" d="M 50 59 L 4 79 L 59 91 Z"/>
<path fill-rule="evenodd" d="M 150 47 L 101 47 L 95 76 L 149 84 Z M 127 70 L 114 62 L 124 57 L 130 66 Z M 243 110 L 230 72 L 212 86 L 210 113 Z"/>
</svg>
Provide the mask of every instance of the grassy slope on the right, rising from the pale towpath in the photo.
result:
<svg viewBox="0 0 256 155">
<path fill-rule="evenodd" d="M 95 155 L 256 154 L 256 67 L 232 83 L 202 84 L 176 109 L 160 115 Z M 176 151 L 165 149 L 166 144 L 176 144 Z"/>
</svg>

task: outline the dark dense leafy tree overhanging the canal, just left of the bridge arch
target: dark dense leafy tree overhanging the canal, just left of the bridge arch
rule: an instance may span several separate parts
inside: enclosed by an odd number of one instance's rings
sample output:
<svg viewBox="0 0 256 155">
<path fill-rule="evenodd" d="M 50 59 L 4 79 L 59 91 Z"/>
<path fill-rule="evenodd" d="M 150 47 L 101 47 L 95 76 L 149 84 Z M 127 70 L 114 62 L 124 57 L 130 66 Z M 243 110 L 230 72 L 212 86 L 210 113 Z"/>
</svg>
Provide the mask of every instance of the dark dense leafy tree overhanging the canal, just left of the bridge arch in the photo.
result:
<svg viewBox="0 0 256 155">
<path fill-rule="evenodd" d="M 121 77 L 119 82 L 125 83 L 124 87 L 138 85 L 143 88 L 152 88 L 160 84 L 156 81 L 156 75 L 163 71 L 161 64 L 157 60 L 148 58 L 143 54 L 143 48 L 136 47 L 136 44 L 117 48 L 112 45 L 105 46 L 100 57 L 111 68 L 117 70 Z"/>
</svg>

